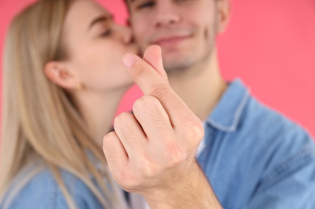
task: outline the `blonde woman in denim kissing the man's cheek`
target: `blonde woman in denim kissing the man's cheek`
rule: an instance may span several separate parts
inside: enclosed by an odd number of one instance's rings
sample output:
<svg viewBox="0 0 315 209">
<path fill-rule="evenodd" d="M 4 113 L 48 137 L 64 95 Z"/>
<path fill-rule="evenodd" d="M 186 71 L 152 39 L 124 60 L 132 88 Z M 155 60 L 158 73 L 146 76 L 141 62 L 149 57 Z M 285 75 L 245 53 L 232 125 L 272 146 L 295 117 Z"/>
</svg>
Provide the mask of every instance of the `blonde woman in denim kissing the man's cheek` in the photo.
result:
<svg viewBox="0 0 315 209">
<path fill-rule="evenodd" d="M 133 84 L 129 30 L 93 1 L 43 0 L 5 45 L 0 208 L 124 208 L 102 139 Z"/>
</svg>

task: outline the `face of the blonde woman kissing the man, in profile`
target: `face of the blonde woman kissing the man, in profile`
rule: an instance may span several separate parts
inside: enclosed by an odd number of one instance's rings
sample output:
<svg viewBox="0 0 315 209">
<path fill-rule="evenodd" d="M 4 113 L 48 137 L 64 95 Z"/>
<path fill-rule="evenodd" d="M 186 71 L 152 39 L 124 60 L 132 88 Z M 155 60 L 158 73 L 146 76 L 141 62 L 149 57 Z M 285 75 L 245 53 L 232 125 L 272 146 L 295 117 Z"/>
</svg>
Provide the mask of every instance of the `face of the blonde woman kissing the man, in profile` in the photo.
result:
<svg viewBox="0 0 315 209">
<path fill-rule="evenodd" d="M 133 81 L 121 64 L 125 53 L 138 53 L 129 28 L 113 22 L 111 14 L 94 1 L 72 3 L 63 26 L 66 64 L 84 88 L 111 91 Z"/>
</svg>

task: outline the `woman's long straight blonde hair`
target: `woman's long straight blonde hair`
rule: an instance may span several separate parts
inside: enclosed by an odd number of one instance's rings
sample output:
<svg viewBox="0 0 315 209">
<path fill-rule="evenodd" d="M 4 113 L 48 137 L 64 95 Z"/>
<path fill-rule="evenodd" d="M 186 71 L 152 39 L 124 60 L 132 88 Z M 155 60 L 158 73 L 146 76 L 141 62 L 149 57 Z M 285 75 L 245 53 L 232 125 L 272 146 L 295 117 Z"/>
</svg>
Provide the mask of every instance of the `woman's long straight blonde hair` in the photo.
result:
<svg viewBox="0 0 315 209">
<path fill-rule="evenodd" d="M 106 169 L 102 149 L 93 141 L 66 92 L 49 81 L 43 70 L 47 62 L 65 56 L 60 37 L 72 2 L 39 1 L 21 12 L 9 28 L 4 51 L 0 197 L 26 160 L 36 155 L 51 169 L 71 209 L 76 206 L 60 169 L 81 179 L 104 207 L 112 208 L 115 202 L 106 199 L 117 198 L 107 183 L 112 187 L 115 183 Z M 105 174 L 87 152 L 104 165 Z"/>
</svg>

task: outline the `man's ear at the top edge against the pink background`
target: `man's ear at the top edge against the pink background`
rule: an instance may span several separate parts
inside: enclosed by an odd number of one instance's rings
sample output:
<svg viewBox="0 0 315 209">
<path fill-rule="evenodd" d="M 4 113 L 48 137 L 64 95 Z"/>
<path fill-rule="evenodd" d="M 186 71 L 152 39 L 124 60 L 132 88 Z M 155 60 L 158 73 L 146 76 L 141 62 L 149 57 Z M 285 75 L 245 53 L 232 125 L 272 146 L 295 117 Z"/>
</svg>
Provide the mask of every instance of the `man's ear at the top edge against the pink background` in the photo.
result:
<svg viewBox="0 0 315 209">
<path fill-rule="evenodd" d="M 223 33 L 228 25 L 231 15 L 231 1 L 230 0 L 215 0 L 217 4 L 218 28 L 217 33 Z"/>
</svg>

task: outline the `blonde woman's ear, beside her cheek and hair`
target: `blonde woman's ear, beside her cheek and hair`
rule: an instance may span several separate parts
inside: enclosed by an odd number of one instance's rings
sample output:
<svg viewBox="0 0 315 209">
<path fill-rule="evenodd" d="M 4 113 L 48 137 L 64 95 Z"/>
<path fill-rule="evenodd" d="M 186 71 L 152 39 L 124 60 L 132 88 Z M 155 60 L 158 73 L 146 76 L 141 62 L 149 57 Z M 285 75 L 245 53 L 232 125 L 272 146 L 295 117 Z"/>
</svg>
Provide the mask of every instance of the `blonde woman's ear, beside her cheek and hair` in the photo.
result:
<svg viewBox="0 0 315 209">
<path fill-rule="evenodd" d="M 61 88 L 75 89 L 80 83 L 75 73 L 62 62 L 50 61 L 46 63 L 44 71 L 46 77 Z"/>
</svg>

